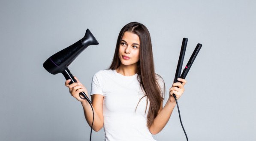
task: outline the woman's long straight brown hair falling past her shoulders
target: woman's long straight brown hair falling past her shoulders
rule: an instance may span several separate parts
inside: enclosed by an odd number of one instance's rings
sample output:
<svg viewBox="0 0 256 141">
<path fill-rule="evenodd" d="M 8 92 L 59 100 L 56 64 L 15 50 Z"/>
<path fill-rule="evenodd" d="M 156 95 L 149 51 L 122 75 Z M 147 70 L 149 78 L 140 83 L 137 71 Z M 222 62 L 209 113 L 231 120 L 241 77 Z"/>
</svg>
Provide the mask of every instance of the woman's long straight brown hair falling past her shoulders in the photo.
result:
<svg viewBox="0 0 256 141">
<path fill-rule="evenodd" d="M 138 67 L 137 79 L 140 82 L 140 87 L 142 88 L 142 90 L 145 91 L 145 96 L 148 97 L 147 105 L 148 105 L 148 100 L 150 101 L 149 111 L 147 115 L 147 118 L 148 118 L 147 126 L 150 127 L 155 117 L 157 117 L 158 111 L 160 110 L 161 101 L 163 98 L 161 97 L 160 85 L 156 80 L 156 76 L 157 77 L 160 77 L 160 76 L 155 74 L 151 37 L 147 27 L 145 27 L 143 24 L 140 24 L 138 22 L 131 22 L 129 24 L 126 24 L 121 29 L 117 38 L 114 57 L 108 69 L 114 70 L 120 66 L 121 61 L 118 57 L 119 46 L 120 46 L 123 34 L 126 31 L 134 33 L 139 36 L 139 40 L 140 40 L 139 57 L 140 58 L 139 58 L 139 61 L 137 62 L 137 67 Z M 165 89 L 165 86 L 164 86 L 164 89 Z M 164 97 L 164 93 L 162 93 L 162 96 Z"/>
</svg>

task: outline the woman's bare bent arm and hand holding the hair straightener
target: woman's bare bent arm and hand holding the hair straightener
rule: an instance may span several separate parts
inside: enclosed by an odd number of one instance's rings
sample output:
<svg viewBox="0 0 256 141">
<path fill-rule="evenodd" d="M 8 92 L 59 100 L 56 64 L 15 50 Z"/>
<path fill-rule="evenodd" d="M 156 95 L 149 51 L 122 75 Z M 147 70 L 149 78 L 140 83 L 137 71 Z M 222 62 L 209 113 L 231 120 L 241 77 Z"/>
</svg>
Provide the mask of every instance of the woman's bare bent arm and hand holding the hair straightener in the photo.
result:
<svg viewBox="0 0 256 141">
<path fill-rule="evenodd" d="M 186 84 L 187 81 L 185 79 L 180 79 L 180 78 L 178 78 L 178 80 L 181 81 L 182 84 L 180 82 L 172 84 L 172 88 L 170 88 L 170 92 L 169 92 L 169 99 L 166 102 L 166 105 L 163 108 L 163 100 L 162 100 L 161 108 L 157 114 L 157 117 L 154 119 L 153 124 L 149 127 L 149 131 L 154 135 L 159 133 L 166 126 L 167 122 L 169 121 L 172 115 L 172 111 L 176 105 L 176 101 L 172 96 L 172 94 L 175 94 L 178 100 L 181 97 L 181 95 L 184 93 L 184 90 L 185 90 L 184 85 Z"/>
</svg>

